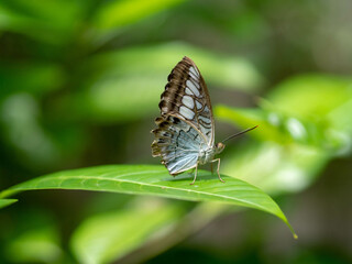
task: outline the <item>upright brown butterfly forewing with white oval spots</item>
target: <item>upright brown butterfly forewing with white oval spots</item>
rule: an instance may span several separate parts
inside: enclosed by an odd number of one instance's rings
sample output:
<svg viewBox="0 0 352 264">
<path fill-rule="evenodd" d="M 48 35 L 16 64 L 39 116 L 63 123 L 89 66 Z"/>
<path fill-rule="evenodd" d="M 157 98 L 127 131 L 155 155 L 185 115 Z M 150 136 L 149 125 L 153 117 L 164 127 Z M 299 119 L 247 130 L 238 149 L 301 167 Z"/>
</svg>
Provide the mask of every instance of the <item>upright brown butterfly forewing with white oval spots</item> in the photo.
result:
<svg viewBox="0 0 352 264">
<path fill-rule="evenodd" d="M 190 122 L 213 145 L 213 117 L 206 82 L 196 64 L 184 57 L 168 76 L 160 108 L 162 116 L 174 114 Z"/>
</svg>

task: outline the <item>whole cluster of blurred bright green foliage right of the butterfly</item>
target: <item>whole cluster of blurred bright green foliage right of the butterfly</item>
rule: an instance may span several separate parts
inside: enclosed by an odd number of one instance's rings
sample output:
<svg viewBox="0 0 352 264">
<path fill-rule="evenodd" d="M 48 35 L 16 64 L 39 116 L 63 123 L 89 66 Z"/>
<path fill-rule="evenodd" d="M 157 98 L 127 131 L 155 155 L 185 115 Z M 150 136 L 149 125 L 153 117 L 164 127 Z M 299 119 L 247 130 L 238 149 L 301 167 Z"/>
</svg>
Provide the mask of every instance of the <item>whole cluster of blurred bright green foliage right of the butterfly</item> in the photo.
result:
<svg viewBox="0 0 352 264">
<path fill-rule="evenodd" d="M 234 165 L 227 163 L 223 172 L 271 193 L 298 191 L 311 184 L 331 158 L 351 154 L 352 122 L 345 120 L 345 113 L 352 112 L 352 79 L 296 77 L 267 98 L 261 101 L 263 110 L 216 109 L 223 120 L 243 127 L 260 124 L 263 130 L 253 133 L 261 144 L 233 152 L 228 162 Z M 253 166 L 248 166 L 248 161 Z M 265 170 L 264 164 L 270 165 Z"/>
</svg>

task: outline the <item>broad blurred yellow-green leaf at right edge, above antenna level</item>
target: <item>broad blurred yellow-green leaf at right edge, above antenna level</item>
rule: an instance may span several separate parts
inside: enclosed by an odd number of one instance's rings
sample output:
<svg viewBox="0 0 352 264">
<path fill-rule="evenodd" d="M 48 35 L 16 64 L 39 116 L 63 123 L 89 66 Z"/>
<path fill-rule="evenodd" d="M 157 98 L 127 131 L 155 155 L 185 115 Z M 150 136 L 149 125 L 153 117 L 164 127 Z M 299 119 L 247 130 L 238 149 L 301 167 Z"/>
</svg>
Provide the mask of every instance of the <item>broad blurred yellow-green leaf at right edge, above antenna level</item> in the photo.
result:
<svg viewBox="0 0 352 264">
<path fill-rule="evenodd" d="M 306 123 L 322 124 L 323 136 L 339 154 L 352 148 L 352 78 L 326 75 L 298 76 L 277 86 L 262 101 L 268 111 L 283 112 Z"/>
</svg>

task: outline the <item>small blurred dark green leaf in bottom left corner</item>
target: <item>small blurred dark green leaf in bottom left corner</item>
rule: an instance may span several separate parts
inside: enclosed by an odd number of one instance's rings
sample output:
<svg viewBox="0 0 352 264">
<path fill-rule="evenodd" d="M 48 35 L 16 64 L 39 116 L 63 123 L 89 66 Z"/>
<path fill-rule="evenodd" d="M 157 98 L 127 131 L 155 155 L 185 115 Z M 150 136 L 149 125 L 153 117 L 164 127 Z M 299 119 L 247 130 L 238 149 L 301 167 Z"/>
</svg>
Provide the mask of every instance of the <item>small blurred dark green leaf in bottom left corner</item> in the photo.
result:
<svg viewBox="0 0 352 264">
<path fill-rule="evenodd" d="M 6 245 L 4 252 L 15 263 L 57 263 L 62 257 L 57 230 L 48 227 L 22 233 Z"/>
</svg>

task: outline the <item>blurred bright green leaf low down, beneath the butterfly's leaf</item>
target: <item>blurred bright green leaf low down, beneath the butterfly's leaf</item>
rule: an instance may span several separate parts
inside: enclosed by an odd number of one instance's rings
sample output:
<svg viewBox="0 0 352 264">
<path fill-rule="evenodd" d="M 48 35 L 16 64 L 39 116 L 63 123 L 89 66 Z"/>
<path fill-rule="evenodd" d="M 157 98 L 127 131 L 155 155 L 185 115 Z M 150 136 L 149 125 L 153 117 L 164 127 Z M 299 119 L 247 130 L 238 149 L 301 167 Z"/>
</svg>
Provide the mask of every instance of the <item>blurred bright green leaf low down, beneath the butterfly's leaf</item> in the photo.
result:
<svg viewBox="0 0 352 264">
<path fill-rule="evenodd" d="M 150 239 L 163 235 L 182 211 L 165 200 L 143 197 L 124 210 L 85 220 L 73 234 L 73 252 L 80 263 L 111 263 Z"/>
</svg>

